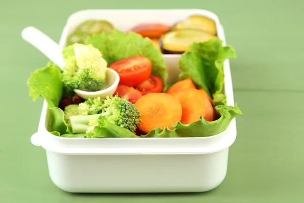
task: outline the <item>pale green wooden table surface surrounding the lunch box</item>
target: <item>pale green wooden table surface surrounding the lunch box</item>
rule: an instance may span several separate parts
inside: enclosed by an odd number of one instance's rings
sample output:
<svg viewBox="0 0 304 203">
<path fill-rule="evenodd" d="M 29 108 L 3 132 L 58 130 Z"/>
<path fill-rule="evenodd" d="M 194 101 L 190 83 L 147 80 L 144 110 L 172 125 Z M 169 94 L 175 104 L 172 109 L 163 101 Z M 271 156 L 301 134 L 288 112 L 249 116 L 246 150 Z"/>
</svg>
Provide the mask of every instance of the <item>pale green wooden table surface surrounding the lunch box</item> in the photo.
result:
<svg viewBox="0 0 304 203">
<path fill-rule="evenodd" d="M 300 0 L 2 1 L 0 202 L 304 202 L 303 6 Z M 51 182 L 44 149 L 30 143 L 43 100 L 34 103 L 26 86 L 30 72 L 48 59 L 20 33 L 33 25 L 58 42 L 71 13 L 97 8 L 199 8 L 218 14 L 237 52 L 231 70 L 235 101 L 244 112 L 219 187 L 206 193 L 92 195 L 67 193 Z"/>
</svg>

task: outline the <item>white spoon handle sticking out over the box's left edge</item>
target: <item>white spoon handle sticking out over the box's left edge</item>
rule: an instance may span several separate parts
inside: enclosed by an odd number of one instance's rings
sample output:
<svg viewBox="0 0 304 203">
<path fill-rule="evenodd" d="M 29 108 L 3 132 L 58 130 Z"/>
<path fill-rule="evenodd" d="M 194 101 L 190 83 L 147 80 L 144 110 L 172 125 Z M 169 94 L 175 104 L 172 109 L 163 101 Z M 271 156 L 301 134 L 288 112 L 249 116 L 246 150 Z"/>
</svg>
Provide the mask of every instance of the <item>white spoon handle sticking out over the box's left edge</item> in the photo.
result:
<svg viewBox="0 0 304 203">
<path fill-rule="evenodd" d="M 32 26 L 24 28 L 21 36 L 63 70 L 65 63 L 62 56 L 62 48 L 51 38 Z"/>
</svg>

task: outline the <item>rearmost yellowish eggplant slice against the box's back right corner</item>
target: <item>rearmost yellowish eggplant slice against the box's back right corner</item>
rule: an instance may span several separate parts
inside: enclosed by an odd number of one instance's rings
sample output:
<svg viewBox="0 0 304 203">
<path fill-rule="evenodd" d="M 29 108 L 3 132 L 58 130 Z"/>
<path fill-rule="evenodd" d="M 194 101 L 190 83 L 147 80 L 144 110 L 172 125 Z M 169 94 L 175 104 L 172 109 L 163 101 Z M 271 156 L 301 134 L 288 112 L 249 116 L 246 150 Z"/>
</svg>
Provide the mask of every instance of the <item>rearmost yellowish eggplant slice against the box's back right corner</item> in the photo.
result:
<svg viewBox="0 0 304 203">
<path fill-rule="evenodd" d="M 217 35 L 215 22 L 210 18 L 200 15 L 190 16 L 186 20 L 173 25 L 171 29 L 200 29 L 202 31 L 210 33 L 210 35 Z"/>
</svg>

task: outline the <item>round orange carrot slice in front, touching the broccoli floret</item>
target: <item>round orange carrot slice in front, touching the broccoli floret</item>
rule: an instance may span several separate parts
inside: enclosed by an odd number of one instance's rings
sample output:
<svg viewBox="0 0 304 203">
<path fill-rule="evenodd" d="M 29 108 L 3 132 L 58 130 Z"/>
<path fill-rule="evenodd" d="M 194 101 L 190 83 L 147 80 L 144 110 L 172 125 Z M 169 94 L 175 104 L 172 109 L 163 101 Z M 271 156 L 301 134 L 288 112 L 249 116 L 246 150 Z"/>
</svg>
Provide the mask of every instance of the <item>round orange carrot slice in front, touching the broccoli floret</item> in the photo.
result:
<svg viewBox="0 0 304 203">
<path fill-rule="evenodd" d="M 148 93 L 140 97 L 135 107 L 141 114 L 137 127 L 144 133 L 160 127 L 173 129 L 181 119 L 182 108 L 179 100 L 167 93 Z"/>
</svg>

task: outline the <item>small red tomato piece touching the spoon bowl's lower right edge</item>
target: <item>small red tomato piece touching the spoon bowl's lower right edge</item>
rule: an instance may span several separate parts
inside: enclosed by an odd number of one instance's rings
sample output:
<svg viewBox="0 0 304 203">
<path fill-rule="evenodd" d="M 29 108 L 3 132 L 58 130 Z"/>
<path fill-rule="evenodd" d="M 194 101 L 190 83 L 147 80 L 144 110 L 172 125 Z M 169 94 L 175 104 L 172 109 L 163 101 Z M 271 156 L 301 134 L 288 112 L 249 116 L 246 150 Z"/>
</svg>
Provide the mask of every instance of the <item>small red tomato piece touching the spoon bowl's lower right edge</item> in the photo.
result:
<svg viewBox="0 0 304 203">
<path fill-rule="evenodd" d="M 127 99 L 132 104 L 135 104 L 135 101 L 142 96 L 142 93 L 140 91 L 126 85 L 119 85 L 113 96 L 116 94 L 121 98 Z"/>
</svg>

